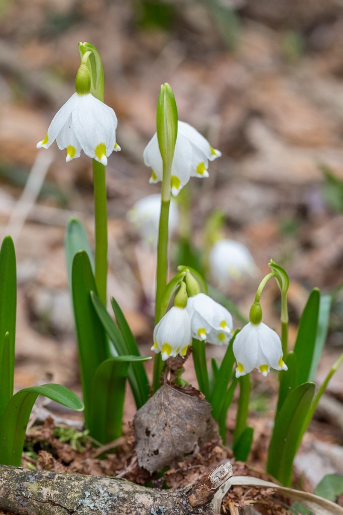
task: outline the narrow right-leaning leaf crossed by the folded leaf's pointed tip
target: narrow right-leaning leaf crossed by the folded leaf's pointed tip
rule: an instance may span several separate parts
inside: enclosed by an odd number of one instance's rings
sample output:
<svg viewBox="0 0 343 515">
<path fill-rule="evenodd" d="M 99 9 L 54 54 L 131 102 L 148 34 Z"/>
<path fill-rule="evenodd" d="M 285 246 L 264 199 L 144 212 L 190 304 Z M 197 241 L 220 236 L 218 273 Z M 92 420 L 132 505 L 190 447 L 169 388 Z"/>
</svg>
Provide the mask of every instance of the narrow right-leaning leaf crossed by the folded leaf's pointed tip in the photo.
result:
<svg viewBox="0 0 343 515">
<path fill-rule="evenodd" d="M 91 298 L 93 302 L 93 306 L 97 315 L 103 325 L 104 330 L 112 341 L 116 351 L 119 356 L 125 355 L 135 355 L 139 356 L 139 351 L 137 348 L 138 354 L 131 352 L 131 347 L 128 346 L 127 341 L 124 339 L 124 336 L 118 329 L 115 322 L 112 320 L 109 313 L 107 313 L 106 308 L 98 298 L 98 296 L 92 291 Z M 145 361 L 145 360 L 143 360 Z M 139 409 L 143 404 L 145 404 L 148 400 L 149 396 L 149 380 L 146 374 L 144 365 L 138 359 L 132 363 L 129 368 L 129 382 L 132 389 L 132 393 L 135 399 L 136 407 Z"/>
</svg>

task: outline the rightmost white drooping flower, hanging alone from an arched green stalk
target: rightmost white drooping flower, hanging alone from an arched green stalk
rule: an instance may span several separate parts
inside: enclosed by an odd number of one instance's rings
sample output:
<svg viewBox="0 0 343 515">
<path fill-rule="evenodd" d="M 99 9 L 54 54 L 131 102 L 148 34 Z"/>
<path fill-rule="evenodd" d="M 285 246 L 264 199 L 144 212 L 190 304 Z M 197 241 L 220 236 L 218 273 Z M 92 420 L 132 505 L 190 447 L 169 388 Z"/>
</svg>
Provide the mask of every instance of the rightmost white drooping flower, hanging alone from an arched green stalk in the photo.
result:
<svg viewBox="0 0 343 515">
<path fill-rule="evenodd" d="M 236 377 L 248 374 L 257 368 L 268 375 L 270 368 L 287 370 L 282 360 L 279 335 L 268 325 L 247 323 L 233 342 L 233 354 L 237 361 Z"/>
</svg>

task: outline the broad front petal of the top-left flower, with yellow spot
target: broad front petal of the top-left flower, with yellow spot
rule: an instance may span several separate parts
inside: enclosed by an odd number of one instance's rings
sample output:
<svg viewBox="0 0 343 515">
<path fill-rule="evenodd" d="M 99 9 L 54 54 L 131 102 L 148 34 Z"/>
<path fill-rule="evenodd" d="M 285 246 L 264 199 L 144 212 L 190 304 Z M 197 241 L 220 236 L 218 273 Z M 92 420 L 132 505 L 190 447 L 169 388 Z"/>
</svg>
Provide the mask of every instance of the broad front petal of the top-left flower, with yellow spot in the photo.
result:
<svg viewBox="0 0 343 515">
<path fill-rule="evenodd" d="M 73 111 L 73 127 L 88 157 L 107 164 L 107 157 L 114 150 L 117 124 L 113 109 L 91 94 L 80 95 Z"/>
</svg>

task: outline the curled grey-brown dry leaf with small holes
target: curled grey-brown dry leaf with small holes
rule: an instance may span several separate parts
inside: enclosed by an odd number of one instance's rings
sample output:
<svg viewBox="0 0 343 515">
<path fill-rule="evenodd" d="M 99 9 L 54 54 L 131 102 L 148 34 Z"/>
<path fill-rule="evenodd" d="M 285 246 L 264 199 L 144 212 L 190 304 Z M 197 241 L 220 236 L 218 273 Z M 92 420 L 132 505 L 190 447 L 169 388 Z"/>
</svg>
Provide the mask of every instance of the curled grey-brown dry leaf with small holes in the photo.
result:
<svg viewBox="0 0 343 515">
<path fill-rule="evenodd" d="M 136 454 L 150 473 L 218 438 L 210 404 L 195 389 L 163 385 L 134 417 Z M 197 392 L 198 393 L 198 392 Z"/>
</svg>

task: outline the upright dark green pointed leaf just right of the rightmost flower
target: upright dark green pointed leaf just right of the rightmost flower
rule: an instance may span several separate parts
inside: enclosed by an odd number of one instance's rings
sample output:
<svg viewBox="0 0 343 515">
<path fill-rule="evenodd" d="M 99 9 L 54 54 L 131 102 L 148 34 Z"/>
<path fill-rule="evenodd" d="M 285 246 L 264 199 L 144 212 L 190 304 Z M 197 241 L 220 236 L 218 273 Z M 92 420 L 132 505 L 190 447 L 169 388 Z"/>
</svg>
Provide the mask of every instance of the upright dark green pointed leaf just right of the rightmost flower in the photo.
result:
<svg viewBox="0 0 343 515">
<path fill-rule="evenodd" d="M 309 299 L 302 312 L 294 354 L 298 363 L 298 381 L 302 384 L 308 381 L 312 366 L 312 358 L 317 337 L 320 293 L 318 288 L 311 291 Z"/>
</svg>

